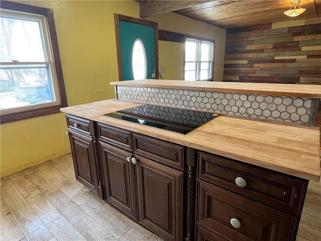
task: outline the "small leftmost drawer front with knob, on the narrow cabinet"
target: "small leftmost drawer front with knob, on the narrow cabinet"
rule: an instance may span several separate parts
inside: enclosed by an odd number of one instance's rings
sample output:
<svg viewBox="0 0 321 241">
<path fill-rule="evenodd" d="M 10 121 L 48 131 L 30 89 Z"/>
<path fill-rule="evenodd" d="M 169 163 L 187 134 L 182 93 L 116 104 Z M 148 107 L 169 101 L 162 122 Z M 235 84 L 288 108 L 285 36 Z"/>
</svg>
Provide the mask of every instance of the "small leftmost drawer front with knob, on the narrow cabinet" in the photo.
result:
<svg viewBox="0 0 321 241">
<path fill-rule="evenodd" d="M 94 134 L 94 125 L 89 121 L 89 119 L 69 114 L 66 114 L 66 119 L 68 128 L 89 136 Z"/>
</svg>

